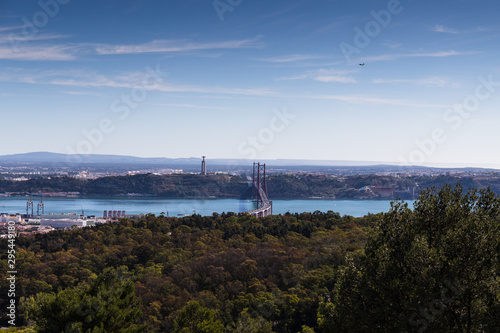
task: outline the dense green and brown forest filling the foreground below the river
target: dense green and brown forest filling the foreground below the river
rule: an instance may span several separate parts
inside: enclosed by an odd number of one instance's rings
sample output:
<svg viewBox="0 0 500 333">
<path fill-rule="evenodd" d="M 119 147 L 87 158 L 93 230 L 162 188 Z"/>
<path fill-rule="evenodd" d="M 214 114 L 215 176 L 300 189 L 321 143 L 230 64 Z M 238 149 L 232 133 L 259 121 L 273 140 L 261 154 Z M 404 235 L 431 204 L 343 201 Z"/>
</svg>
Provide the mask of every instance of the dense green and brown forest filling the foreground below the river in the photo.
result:
<svg viewBox="0 0 500 333">
<path fill-rule="evenodd" d="M 17 331 L 498 332 L 499 221 L 498 196 L 457 185 L 361 218 L 147 215 L 21 235 Z"/>
</svg>

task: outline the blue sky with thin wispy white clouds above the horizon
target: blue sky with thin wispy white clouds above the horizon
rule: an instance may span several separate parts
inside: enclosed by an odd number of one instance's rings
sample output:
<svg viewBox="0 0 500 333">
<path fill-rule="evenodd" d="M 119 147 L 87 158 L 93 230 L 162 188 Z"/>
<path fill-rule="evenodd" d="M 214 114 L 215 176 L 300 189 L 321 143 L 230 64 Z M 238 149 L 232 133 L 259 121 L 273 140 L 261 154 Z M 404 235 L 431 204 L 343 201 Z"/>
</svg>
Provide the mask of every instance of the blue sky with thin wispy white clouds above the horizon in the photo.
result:
<svg viewBox="0 0 500 333">
<path fill-rule="evenodd" d="M 494 0 L 0 0 L 0 155 L 500 167 Z"/>
</svg>

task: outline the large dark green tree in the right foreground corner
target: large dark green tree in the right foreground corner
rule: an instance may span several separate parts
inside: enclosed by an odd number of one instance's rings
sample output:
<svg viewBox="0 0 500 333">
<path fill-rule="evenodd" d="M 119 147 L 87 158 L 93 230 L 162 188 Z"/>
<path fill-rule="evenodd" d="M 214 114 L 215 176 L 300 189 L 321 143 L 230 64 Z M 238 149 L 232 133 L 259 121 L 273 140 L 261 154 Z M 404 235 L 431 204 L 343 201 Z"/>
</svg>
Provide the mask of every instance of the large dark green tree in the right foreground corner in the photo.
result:
<svg viewBox="0 0 500 333">
<path fill-rule="evenodd" d="M 498 332 L 500 198 L 449 185 L 384 214 L 339 271 L 323 332 Z"/>
</svg>

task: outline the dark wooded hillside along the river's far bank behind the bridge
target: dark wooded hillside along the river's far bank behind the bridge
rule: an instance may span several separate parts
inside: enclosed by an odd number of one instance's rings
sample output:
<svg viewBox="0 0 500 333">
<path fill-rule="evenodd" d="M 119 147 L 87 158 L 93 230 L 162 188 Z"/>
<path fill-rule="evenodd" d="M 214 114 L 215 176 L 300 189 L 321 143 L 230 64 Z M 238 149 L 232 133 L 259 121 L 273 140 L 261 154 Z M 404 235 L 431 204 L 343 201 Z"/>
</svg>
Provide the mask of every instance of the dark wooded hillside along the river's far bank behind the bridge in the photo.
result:
<svg viewBox="0 0 500 333">
<path fill-rule="evenodd" d="M 366 186 L 390 188 L 392 198 L 411 199 L 409 188 L 418 192 L 435 186 L 461 183 L 465 189 L 490 187 L 500 193 L 500 178 L 474 176 L 393 177 L 378 175 L 275 174 L 267 177 L 271 199 L 378 199 L 376 193 L 363 192 Z M 0 193 L 80 192 L 83 196 L 120 196 L 129 193 L 165 198 L 248 198 L 251 196 L 246 177 L 230 175 L 175 174 L 134 175 L 78 180 L 70 177 L 30 179 L 16 182 L 0 180 Z"/>
</svg>

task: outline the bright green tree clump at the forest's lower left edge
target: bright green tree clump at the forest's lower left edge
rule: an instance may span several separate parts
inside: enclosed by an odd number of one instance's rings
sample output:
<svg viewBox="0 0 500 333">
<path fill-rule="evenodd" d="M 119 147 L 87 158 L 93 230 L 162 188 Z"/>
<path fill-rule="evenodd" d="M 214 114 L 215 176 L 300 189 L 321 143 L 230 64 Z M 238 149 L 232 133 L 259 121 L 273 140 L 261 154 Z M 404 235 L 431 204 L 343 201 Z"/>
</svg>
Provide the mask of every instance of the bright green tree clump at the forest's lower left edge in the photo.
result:
<svg viewBox="0 0 500 333">
<path fill-rule="evenodd" d="M 90 285 L 25 299 L 25 317 L 37 332 L 144 332 L 134 284 L 107 268 Z"/>
</svg>

